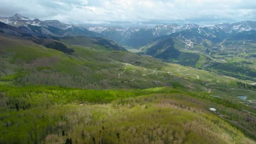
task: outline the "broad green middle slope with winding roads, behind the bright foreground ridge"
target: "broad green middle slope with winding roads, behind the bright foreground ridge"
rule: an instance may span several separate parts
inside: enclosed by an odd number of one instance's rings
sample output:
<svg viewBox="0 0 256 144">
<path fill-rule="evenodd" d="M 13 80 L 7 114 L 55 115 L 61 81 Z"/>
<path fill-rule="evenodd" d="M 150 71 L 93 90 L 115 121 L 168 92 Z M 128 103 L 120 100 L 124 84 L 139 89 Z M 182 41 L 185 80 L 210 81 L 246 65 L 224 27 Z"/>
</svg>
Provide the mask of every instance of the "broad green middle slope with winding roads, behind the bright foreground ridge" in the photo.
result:
<svg viewBox="0 0 256 144">
<path fill-rule="evenodd" d="M 233 77 L 164 63 L 152 57 L 139 56 L 127 51 L 109 50 L 101 45 L 90 44 L 90 47 L 67 45 L 74 49 L 72 55 L 67 55 L 34 44 L 29 40 L 6 36 L 2 36 L 0 40 L 3 61 L 1 63 L 3 69 L 0 73 L 2 81 L 14 80 L 25 85 L 57 85 L 94 89 L 149 88 L 170 86 L 175 83 L 199 91 L 201 89 L 208 91 L 209 87 L 213 87 L 212 89 L 218 89 L 217 87 L 240 88 L 236 85 L 236 82 L 240 80 Z M 77 38 L 65 40 L 69 43 L 79 42 L 76 41 Z M 92 39 L 89 38 L 89 40 Z M 179 67 L 181 67 L 180 70 L 178 70 Z M 177 79 L 176 76 L 179 78 Z M 217 81 L 219 82 L 216 85 L 207 86 Z M 220 94 L 217 92 L 216 95 Z M 226 97 L 227 95 L 220 96 Z M 255 99 L 252 95 L 253 93 L 246 96 Z"/>
</svg>

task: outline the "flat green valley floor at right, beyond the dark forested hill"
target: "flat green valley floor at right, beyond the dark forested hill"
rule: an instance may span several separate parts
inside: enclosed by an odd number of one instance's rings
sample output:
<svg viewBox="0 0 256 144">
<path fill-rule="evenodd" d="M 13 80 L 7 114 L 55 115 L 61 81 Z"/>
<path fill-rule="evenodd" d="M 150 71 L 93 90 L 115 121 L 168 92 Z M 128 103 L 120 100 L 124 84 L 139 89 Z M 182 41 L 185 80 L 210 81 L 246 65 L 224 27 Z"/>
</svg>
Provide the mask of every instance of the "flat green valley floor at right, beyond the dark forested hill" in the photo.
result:
<svg viewBox="0 0 256 144">
<path fill-rule="evenodd" d="M 180 47 L 181 50 L 185 49 L 185 46 L 182 48 L 178 44 L 175 47 Z M 201 68 L 203 66 L 218 71 L 220 74 L 255 81 L 254 40 L 227 38 L 219 43 L 214 43 L 209 39 L 203 39 L 200 44 L 194 43 L 194 47 L 189 51 L 201 54 L 200 59 L 193 67 Z"/>
</svg>

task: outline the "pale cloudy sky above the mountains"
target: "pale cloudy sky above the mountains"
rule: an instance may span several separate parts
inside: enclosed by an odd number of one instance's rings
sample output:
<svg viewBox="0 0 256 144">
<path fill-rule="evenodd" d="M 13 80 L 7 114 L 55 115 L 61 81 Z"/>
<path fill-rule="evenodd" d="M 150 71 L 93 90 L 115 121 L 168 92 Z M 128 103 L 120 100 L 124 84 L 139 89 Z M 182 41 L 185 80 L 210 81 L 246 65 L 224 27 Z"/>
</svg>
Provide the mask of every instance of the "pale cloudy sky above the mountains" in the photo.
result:
<svg viewBox="0 0 256 144">
<path fill-rule="evenodd" d="M 256 21 L 255 0 L 0 0 L 14 14 L 69 24 L 161 25 Z"/>
</svg>

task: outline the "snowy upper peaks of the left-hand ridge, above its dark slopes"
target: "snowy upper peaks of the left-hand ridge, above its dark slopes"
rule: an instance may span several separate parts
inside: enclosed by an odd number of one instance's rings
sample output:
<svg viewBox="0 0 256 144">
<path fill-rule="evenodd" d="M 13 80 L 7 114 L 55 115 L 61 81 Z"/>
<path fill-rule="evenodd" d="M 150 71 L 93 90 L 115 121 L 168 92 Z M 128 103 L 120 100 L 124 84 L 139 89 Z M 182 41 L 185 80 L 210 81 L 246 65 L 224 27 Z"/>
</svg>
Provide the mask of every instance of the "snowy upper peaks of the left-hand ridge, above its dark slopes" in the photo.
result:
<svg viewBox="0 0 256 144">
<path fill-rule="evenodd" d="M 51 27 L 60 28 L 62 30 L 72 27 L 72 25 L 67 25 L 57 20 L 46 20 L 46 21 L 40 21 L 39 19 L 30 20 L 27 17 L 21 16 L 19 14 L 15 14 L 14 16 L 11 16 L 11 17 L 0 17 L 0 22 L 3 22 L 11 26 L 15 26 L 15 27 L 27 26 L 27 25 L 40 26 L 40 27 L 51 26 Z"/>
</svg>

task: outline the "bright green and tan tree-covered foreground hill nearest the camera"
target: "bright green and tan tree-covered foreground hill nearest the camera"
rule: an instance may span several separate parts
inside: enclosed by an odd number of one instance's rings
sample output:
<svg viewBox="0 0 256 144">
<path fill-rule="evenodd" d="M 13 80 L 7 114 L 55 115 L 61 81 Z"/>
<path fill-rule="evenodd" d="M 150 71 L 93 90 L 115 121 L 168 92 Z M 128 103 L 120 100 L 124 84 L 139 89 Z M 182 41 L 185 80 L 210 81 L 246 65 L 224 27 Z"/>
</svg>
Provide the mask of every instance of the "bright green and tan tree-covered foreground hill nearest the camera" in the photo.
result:
<svg viewBox="0 0 256 144">
<path fill-rule="evenodd" d="M 255 122 L 245 122 L 255 117 L 240 111 L 246 106 L 183 88 L 99 91 L 2 83 L 0 91 L 0 143 L 255 142 Z"/>
</svg>

